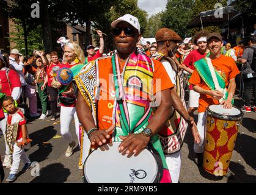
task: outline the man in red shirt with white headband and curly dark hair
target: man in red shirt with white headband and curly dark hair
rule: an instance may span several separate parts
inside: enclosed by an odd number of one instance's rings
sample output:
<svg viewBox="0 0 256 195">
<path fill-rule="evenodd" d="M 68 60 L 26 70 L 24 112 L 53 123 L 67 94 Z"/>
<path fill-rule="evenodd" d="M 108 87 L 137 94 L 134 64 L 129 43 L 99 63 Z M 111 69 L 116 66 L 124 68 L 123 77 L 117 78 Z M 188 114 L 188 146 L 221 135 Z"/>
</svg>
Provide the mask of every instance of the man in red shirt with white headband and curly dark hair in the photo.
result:
<svg viewBox="0 0 256 195">
<path fill-rule="evenodd" d="M 207 35 L 208 32 L 201 31 L 197 32 L 194 36 L 194 43 L 198 46 L 198 49 L 191 51 L 180 68 L 187 71 L 189 74 L 194 72 L 194 62 L 205 57 L 208 53 L 207 49 Z M 188 103 L 188 113 L 193 113 L 199 105 L 200 94 L 193 90 L 193 86 L 189 85 L 189 103 Z"/>
</svg>

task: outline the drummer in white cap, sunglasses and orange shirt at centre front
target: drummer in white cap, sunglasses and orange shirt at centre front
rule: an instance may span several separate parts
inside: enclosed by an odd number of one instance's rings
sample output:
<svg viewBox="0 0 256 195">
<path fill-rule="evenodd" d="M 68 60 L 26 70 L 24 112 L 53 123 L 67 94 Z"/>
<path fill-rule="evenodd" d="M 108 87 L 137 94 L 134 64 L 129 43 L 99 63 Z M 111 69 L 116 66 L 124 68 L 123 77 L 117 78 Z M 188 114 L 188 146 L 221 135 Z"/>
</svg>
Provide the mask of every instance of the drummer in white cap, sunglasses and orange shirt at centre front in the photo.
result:
<svg viewBox="0 0 256 195">
<path fill-rule="evenodd" d="M 157 134 L 176 100 L 177 95 L 170 96 L 176 94 L 174 84 L 161 62 L 136 49 L 141 38 L 136 17 L 126 14 L 111 26 L 117 51 L 85 65 L 75 77 L 79 121 L 92 147 L 122 141 L 119 152 L 137 155 L 153 146 L 164 168 L 159 180 L 170 182 Z M 155 113 L 154 105 L 158 107 Z"/>
</svg>

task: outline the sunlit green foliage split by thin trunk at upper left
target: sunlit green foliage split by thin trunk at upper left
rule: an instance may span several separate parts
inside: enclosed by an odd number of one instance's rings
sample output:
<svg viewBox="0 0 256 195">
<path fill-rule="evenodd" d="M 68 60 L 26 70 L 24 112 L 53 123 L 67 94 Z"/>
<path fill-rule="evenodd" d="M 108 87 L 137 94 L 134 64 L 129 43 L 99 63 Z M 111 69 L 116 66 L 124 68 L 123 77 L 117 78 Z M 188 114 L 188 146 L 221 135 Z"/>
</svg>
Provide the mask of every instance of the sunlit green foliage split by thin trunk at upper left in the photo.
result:
<svg viewBox="0 0 256 195">
<path fill-rule="evenodd" d="M 15 48 L 25 55 L 24 31 L 18 19 L 15 19 L 15 31 L 10 32 L 10 41 L 16 44 Z M 42 26 L 37 26 L 27 34 L 28 54 L 34 49 L 43 50 Z"/>
</svg>

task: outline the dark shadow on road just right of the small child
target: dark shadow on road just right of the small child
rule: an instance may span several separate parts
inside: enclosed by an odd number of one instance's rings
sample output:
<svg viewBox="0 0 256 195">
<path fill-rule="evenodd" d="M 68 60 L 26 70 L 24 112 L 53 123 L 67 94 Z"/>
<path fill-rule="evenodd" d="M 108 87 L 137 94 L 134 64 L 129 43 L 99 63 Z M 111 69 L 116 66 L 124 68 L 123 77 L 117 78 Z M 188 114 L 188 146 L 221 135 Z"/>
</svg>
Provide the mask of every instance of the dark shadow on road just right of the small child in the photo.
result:
<svg viewBox="0 0 256 195">
<path fill-rule="evenodd" d="M 56 133 L 57 130 L 55 130 L 53 126 L 49 126 L 29 134 L 29 137 L 33 140 L 31 146 L 38 145 L 38 150 L 29 155 L 31 161 L 40 163 L 51 154 L 53 146 L 47 142 L 51 140 Z"/>
</svg>

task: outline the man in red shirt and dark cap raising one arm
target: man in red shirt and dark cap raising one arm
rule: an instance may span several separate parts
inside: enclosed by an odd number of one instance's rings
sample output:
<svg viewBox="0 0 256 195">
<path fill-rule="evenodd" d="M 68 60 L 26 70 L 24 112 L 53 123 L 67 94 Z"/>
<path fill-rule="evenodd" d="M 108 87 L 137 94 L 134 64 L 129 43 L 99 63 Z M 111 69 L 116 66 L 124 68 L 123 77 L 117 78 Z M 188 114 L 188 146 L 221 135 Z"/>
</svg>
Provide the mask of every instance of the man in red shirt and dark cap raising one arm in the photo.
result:
<svg viewBox="0 0 256 195">
<path fill-rule="evenodd" d="M 89 63 L 93 60 L 96 60 L 97 58 L 101 57 L 104 52 L 103 33 L 101 32 L 101 30 L 97 30 L 97 34 L 100 36 L 100 48 L 98 48 L 98 51 L 95 51 L 95 48 L 92 46 L 92 44 L 87 45 L 87 57 L 85 63 Z"/>
</svg>

